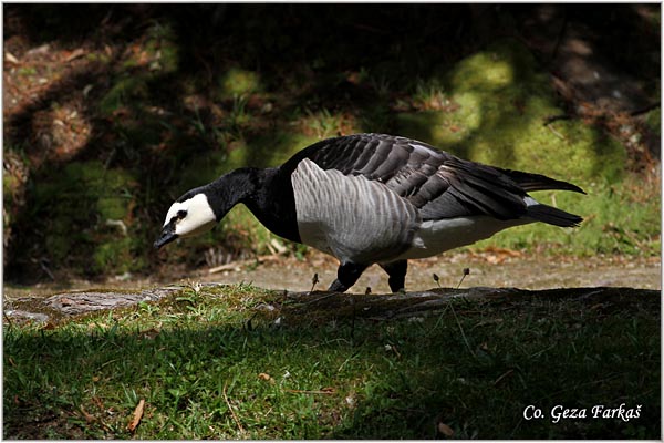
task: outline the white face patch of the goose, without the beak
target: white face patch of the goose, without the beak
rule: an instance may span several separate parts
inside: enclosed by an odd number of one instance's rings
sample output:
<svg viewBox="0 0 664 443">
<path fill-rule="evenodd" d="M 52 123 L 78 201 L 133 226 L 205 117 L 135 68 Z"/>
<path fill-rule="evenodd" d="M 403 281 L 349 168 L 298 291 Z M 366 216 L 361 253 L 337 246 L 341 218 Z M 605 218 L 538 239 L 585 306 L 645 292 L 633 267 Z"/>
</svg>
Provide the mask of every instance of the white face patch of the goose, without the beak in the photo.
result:
<svg viewBox="0 0 664 443">
<path fill-rule="evenodd" d="M 176 202 L 168 209 L 164 226 L 170 220 L 175 222 L 175 234 L 179 237 L 189 237 L 210 230 L 217 219 L 205 194 L 196 194 L 184 202 Z"/>
</svg>

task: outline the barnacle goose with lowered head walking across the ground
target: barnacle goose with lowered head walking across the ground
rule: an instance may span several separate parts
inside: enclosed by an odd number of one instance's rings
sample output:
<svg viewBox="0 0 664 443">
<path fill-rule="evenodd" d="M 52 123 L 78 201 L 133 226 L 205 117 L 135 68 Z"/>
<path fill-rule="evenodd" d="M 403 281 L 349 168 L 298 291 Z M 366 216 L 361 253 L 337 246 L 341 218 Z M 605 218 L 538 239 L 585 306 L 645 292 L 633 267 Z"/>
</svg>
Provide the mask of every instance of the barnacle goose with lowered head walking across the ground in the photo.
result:
<svg viewBox="0 0 664 443">
<path fill-rule="evenodd" d="M 426 143 L 355 134 L 315 143 L 273 168 L 240 168 L 185 193 L 168 209 L 160 248 L 211 229 L 243 203 L 272 233 L 336 257 L 331 291 L 343 292 L 372 264 L 404 289 L 407 260 L 533 222 L 582 218 L 538 203 L 530 190 L 584 192 L 539 174 L 465 161 Z"/>
</svg>

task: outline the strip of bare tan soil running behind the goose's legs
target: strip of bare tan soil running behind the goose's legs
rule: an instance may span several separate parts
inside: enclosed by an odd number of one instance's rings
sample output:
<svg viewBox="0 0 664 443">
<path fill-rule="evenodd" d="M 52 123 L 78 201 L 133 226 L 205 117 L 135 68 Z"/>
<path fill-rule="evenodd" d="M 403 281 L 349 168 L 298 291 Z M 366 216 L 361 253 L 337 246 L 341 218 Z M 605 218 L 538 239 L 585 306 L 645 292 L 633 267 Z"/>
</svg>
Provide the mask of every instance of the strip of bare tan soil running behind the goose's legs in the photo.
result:
<svg viewBox="0 0 664 443">
<path fill-rule="evenodd" d="M 8 300 L 18 297 L 48 297 L 53 293 L 85 290 L 91 288 L 145 289 L 164 287 L 169 284 L 219 282 L 252 284 L 273 290 L 309 291 L 312 279 L 318 274 L 317 290 L 324 290 L 336 276 L 338 262 L 324 254 L 312 251 L 305 259 L 268 256 L 258 260 L 229 264 L 225 269 L 210 274 L 212 268 L 195 272 L 155 275 L 152 278 L 129 278 L 116 276 L 105 281 L 72 280 L 68 282 L 39 284 L 33 287 L 4 287 Z M 469 274 L 464 278 L 464 269 Z M 417 291 L 440 287 L 515 287 L 521 289 L 547 289 L 562 287 L 631 287 L 662 289 L 661 257 L 594 256 L 594 257 L 548 257 L 508 249 L 487 249 L 483 253 L 457 253 L 408 262 L 406 290 Z M 460 285 L 459 285 L 460 282 Z M 364 293 L 371 288 L 373 293 L 390 292 L 385 272 L 372 266 L 362 275 L 350 292 Z"/>
</svg>

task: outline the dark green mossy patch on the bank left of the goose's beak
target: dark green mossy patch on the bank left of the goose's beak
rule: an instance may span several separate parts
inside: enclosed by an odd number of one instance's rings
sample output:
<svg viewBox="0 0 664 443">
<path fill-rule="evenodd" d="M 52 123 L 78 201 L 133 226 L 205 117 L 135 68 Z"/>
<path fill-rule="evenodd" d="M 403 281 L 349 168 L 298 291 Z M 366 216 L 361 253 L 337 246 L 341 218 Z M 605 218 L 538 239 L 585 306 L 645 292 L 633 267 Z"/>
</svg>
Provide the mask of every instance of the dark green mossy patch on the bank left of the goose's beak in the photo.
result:
<svg viewBox="0 0 664 443">
<path fill-rule="evenodd" d="M 34 216 L 44 220 L 44 246 L 54 265 L 93 274 L 131 267 L 134 237 L 106 222 L 120 220 L 131 234 L 136 186 L 126 171 L 106 169 L 96 161 L 68 164 L 37 182 Z"/>
</svg>

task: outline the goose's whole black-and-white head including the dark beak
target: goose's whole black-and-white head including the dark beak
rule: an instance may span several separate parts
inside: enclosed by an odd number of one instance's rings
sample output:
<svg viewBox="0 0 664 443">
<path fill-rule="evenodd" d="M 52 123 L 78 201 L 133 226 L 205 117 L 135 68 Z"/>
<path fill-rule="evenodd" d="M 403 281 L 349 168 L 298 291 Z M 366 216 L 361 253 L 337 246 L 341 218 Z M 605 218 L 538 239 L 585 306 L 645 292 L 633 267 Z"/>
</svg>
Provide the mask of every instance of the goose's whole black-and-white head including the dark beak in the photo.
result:
<svg viewBox="0 0 664 443">
<path fill-rule="evenodd" d="M 206 233 L 215 227 L 216 223 L 217 217 L 208 196 L 204 192 L 190 190 L 170 205 L 155 248 L 159 249 L 179 237 Z"/>
</svg>

